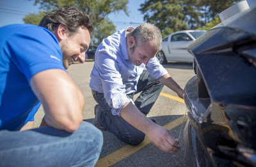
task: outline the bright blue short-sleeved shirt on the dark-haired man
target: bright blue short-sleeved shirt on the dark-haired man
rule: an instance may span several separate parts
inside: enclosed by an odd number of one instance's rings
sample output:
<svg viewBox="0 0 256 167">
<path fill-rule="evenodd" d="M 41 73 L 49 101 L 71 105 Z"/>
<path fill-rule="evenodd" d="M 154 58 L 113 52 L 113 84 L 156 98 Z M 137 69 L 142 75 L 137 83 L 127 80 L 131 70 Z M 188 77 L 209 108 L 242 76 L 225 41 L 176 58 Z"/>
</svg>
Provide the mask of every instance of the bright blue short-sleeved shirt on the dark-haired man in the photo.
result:
<svg viewBox="0 0 256 167">
<path fill-rule="evenodd" d="M 29 24 L 0 28 L 0 129 L 19 130 L 33 120 L 40 102 L 29 80 L 52 68 L 65 70 L 51 31 Z"/>
</svg>

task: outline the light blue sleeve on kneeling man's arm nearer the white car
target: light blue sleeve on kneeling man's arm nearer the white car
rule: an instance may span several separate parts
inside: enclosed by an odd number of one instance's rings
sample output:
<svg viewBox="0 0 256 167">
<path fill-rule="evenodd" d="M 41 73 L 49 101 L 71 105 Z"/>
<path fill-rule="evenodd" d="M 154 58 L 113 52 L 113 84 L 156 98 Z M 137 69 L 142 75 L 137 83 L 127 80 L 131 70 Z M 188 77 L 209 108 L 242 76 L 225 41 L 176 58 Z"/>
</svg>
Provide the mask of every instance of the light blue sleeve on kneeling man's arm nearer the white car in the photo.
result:
<svg viewBox="0 0 256 167">
<path fill-rule="evenodd" d="M 146 65 L 148 72 L 150 73 L 150 77 L 154 79 L 159 79 L 163 77 L 165 74 L 168 74 L 167 70 L 159 63 L 156 57 L 150 59 L 148 64 Z"/>
</svg>

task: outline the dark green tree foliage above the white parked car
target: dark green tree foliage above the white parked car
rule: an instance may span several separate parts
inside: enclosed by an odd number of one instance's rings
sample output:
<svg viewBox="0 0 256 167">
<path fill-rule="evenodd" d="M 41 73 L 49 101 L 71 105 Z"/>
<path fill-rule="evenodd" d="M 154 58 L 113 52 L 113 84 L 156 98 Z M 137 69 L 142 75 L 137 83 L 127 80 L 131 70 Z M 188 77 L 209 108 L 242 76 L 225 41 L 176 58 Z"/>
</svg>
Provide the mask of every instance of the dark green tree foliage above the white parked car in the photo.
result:
<svg viewBox="0 0 256 167">
<path fill-rule="evenodd" d="M 239 1 L 146 0 L 139 10 L 146 22 L 161 29 L 164 37 L 175 31 L 204 28 L 206 23 L 214 22 L 220 12 Z"/>
</svg>

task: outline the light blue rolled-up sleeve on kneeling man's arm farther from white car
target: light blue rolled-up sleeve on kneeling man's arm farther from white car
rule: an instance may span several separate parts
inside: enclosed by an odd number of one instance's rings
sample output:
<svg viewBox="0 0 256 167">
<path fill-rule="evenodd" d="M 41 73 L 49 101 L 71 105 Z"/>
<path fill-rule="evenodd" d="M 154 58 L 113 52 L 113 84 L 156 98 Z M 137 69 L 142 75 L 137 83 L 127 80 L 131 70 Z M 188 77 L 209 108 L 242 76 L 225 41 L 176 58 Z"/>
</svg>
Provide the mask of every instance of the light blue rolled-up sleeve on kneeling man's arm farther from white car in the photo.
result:
<svg viewBox="0 0 256 167">
<path fill-rule="evenodd" d="M 133 103 L 133 101 L 125 94 L 125 85 L 119 72 L 118 61 L 104 52 L 98 54 L 98 59 L 95 63 L 99 63 L 97 67 L 99 67 L 104 97 L 108 105 L 112 107 L 112 114 L 120 116 L 122 107 L 128 102 Z"/>
</svg>

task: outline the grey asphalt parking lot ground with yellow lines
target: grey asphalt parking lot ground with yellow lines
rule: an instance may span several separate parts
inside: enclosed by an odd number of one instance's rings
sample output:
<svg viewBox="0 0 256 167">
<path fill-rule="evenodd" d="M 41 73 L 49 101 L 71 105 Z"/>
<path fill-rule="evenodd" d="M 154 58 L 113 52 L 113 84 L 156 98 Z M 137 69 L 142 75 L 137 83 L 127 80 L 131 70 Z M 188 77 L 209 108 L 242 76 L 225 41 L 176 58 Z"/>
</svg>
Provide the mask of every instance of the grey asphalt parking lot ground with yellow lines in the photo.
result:
<svg viewBox="0 0 256 167">
<path fill-rule="evenodd" d="M 94 61 L 86 60 L 83 64 L 75 63 L 68 68 L 68 73 L 84 94 L 86 101 L 83 112 L 84 121 L 90 123 L 94 122 L 93 108 L 96 104 L 89 87 L 93 63 Z M 191 77 L 195 76 L 191 63 L 169 62 L 164 67 L 182 88 L 184 88 Z M 164 86 L 161 95 L 147 116 L 156 118 L 157 124 L 163 125 L 166 129 L 170 130 L 174 138 L 179 138 L 185 109 L 184 101 L 177 97 L 176 93 Z M 34 127 L 40 125 L 43 116 L 44 109 L 41 106 L 35 115 Z M 185 166 L 183 131 L 180 136 L 180 151 L 178 154 L 162 152 L 150 142 L 147 136 L 143 143 L 132 147 L 121 142 L 110 132 L 102 132 L 104 134 L 104 144 L 99 161 L 95 166 Z"/>
</svg>

